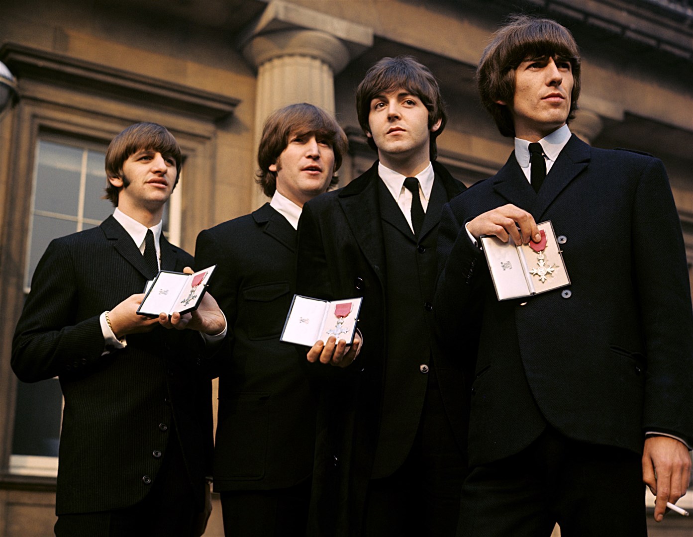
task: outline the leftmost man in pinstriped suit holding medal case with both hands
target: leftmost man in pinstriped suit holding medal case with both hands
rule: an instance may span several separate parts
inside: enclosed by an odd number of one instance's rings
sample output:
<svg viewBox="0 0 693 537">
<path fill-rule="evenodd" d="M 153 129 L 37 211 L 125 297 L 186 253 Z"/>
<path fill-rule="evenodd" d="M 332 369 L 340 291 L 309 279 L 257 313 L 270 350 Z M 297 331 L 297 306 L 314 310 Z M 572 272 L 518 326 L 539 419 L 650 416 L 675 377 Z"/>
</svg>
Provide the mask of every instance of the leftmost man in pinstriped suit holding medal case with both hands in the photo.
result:
<svg viewBox="0 0 693 537">
<path fill-rule="evenodd" d="M 64 396 L 58 536 L 193 536 L 204 531 L 211 470 L 211 382 L 204 342 L 136 311 L 159 267 L 193 258 L 161 234 L 181 153 L 161 125 L 131 125 L 106 154 L 114 215 L 53 240 L 33 276 L 12 343 L 20 380 L 58 376 Z M 180 327 L 223 333 L 206 296 Z"/>
</svg>

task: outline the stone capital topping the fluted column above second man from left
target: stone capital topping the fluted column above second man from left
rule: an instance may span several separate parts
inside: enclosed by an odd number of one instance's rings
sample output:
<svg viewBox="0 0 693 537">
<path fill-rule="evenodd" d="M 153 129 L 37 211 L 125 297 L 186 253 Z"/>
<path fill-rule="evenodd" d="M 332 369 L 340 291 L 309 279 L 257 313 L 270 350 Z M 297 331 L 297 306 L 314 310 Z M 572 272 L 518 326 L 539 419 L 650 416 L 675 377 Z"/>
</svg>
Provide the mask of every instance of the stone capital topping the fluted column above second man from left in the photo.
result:
<svg viewBox="0 0 693 537">
<path fill-rule="evenodd" d="M 328 64 L 336 75 L 373 46 L 373 30 L 284 0 L 272 0 L 240 35 L 238 45 L 254 67 L 286 55 Z"/>
</svg>

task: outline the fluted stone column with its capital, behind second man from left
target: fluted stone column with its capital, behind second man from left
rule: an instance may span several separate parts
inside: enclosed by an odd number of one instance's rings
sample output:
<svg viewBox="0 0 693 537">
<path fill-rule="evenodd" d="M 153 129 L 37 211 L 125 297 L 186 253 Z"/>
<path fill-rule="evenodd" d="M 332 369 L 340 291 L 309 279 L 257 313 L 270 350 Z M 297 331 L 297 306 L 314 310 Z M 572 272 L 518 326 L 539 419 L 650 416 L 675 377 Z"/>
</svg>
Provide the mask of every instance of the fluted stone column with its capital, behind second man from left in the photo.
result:
<svg viewBox="0 0 693 537">
<path fill-rule="evenodd" d="M 335 75 L 372 44 L 370 28 L 285 1 L 270 2 L 241 38 L 243 56 L 258 73 L 253 158 L 274 110 L 310 103 L 334 114 Z M 267 201 L 259 188 L 253 193 L 253 208 Z"/>
</svg>

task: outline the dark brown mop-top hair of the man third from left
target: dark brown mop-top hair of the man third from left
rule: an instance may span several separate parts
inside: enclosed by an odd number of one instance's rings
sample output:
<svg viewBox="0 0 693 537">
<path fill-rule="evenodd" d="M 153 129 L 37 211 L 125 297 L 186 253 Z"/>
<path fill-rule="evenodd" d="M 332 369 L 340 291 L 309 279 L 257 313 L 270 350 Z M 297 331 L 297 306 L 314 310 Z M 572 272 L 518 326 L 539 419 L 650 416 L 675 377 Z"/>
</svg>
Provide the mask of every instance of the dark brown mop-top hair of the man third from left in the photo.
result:
<svg viewBox="0 0 693 537">
<path fill-rule="evenodd" d="M 421 99 L 428 109 L 429 130 L 438 120 L 441 120 L 439 129 L 430 133 L 430 159 L 435 160 L 438 154 L 435 139 L 443 132 L 448 116 L 445 114 L 445 103 L 435 76 L 428 67 L 416 61 L 413 56 L 383 58 L 366 72 L 366 76 L 356 89 L 358 123 L 363 132 L 371 132 L 368 124 L 371 100 L 380 94 L 400 88 Z M 368 138 L 368 145 L 375 150 L 378 149 L 371 137 Z"/>
</svg>

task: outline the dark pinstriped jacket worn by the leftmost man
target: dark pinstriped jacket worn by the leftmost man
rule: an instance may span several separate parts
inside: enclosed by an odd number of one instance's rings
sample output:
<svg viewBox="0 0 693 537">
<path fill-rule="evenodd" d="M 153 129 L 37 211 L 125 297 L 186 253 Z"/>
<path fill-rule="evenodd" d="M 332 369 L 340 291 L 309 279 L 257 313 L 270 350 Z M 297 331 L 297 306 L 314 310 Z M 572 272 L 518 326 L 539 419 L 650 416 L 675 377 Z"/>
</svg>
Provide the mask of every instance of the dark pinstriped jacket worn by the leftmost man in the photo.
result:
<svg viewBox="0 0 693 537">
<path fill-rule="evenodd" d="M 161 237 L 161 268 L 182 271 L 192 261 Z M 170 432 L 186 460 L 182 479 L 191 482 L 202 509 L 212 449 L 211 382 L 198 365 L 202 338 L 157 326 L 102 355 L 100 314 L 142 292 L 147 274 L 139 249 L 111 216 L 53 240 L 33 276 L 12 369 L 24 382 L 60 378 L 59 515 L 139 502 L 166 457 Z"/>
</svg>

